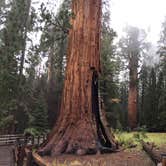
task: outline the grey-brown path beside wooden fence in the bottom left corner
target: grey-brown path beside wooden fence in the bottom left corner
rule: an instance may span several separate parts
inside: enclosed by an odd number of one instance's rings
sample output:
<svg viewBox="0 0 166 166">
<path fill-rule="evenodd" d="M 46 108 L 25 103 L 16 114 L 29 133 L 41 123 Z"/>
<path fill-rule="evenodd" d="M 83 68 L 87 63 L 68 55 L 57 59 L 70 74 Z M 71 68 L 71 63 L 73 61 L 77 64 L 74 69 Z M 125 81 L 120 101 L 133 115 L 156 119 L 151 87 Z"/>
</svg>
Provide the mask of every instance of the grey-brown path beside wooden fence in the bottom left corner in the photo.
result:
<svg viewBox="0 0 166 166">
<path fill-rule="evenodd" d="M 0 166 L 14 166 L 12 146 L 0 146 Z"/>
</svg>

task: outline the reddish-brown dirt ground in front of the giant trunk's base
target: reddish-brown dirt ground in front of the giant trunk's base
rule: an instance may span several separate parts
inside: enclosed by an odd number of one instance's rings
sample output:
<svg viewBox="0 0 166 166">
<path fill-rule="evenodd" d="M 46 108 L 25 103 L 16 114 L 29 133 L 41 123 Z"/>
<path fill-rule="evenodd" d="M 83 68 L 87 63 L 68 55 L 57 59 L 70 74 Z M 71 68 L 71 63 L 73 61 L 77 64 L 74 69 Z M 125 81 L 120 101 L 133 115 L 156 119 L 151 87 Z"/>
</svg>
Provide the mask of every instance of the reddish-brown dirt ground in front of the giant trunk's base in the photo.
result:
<svg viewBox="0 0 166 166">
<path fill-rule="evenodd" d="M 121 151 L 111 154 L 72 156 L 63 155 L 54 160 L 45 157 L 50 166 L 155 166 L 143 151 Z"/>
</svg>

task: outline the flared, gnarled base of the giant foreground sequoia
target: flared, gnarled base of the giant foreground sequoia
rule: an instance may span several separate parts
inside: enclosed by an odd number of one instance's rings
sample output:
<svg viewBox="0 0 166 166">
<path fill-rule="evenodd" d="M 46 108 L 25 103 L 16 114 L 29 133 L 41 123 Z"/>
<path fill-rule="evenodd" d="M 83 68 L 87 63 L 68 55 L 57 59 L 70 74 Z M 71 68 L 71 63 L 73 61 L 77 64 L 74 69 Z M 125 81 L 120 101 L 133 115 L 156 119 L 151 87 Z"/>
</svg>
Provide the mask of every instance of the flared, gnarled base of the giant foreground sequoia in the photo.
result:
<svg viewBox="0 0 166 166">
<path fill-rule="evenodd" d="M 63 128 L 57 127 L 56 134 L 38 153 L 41 156 L 57 156 L 61 154 L 86 155 L 115 152 L 118 149 L 118 143 L 112 132 L 103 123 L 100 124 L 98 132 L 95 132 L 96 127 L 92 124 L 90 121 L 82 119 L 75 124 L 65 123 Z"/>
</svg>

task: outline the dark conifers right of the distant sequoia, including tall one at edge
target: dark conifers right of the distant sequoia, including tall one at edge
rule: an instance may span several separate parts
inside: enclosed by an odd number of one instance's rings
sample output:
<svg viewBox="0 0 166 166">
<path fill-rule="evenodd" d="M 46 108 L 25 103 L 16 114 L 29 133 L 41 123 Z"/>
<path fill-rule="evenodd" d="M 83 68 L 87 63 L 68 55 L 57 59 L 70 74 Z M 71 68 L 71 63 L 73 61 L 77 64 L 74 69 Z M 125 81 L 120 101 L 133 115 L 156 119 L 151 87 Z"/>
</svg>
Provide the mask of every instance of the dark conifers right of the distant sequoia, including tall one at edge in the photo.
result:
<svg viewBox="0 0 166 166">
<path fill-rule="evenodd" d="M 140 75 L 140 124 L 150 131 L 166 128 L 166 20 L 162 24 L 158 54 L 160 62 L 154 66 L 144 64 Z"/>
</svg>

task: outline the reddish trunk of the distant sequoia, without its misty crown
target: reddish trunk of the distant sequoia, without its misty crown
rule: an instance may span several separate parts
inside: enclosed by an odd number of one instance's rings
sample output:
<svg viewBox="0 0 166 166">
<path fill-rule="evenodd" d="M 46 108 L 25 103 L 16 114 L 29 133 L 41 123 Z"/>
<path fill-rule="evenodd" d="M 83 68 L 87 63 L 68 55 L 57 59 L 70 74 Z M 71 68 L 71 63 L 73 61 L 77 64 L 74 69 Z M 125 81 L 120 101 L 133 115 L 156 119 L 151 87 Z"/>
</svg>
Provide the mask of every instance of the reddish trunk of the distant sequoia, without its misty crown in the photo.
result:
<svg viewBox="0 0 166 166">
<path fill-rule="evenodd" d="M 133 55 L 129 62 L 128 124 L 131 129 L 137 127 L 138 103 L 138 57 Z"/>
</svg>

